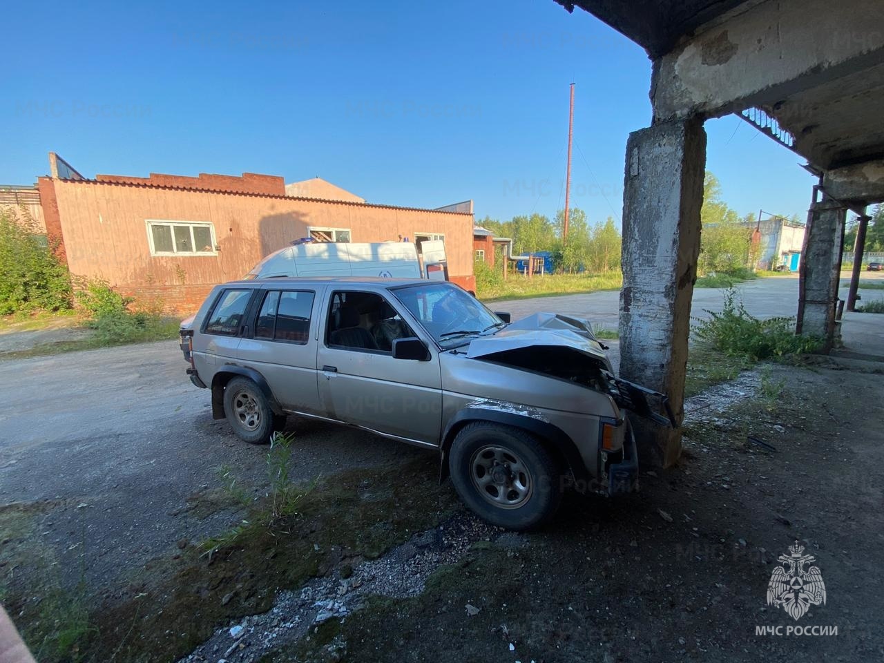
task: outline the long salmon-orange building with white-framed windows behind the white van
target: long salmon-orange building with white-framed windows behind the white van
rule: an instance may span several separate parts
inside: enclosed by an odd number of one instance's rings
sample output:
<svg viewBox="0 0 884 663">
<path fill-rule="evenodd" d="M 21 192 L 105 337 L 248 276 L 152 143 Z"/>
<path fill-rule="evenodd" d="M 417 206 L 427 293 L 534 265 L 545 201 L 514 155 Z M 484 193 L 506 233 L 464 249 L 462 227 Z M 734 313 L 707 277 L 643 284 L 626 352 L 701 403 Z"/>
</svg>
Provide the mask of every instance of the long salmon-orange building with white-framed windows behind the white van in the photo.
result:
<svg viewBox="0 0 884 663">
<path fill-rule="evenodd" d="M 160 297 L 181 312 L 217 283 L 309 236 L 444 239 L 450 278 L 475 289 L 471 202 L 435 210 L 377 205 L 322 179 L 286 187 L 281 177 L 254 173 L 87 179 L 54 154 L 50 171 L 37 183 L 43 218 L 71 273 L 103 278 L 135 297 Z"/>
</svg>

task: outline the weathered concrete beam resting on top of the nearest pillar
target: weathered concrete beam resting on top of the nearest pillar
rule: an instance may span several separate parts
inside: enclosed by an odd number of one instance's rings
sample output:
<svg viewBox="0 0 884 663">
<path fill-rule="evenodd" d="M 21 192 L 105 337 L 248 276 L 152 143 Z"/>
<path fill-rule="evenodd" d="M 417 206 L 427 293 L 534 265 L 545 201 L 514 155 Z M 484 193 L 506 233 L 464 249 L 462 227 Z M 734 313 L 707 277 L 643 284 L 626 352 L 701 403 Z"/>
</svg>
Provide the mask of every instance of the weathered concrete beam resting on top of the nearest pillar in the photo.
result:
<svg viewBox="0 0 884 663">
<path fill-rule="evenodd" d="M 747 3 L 724 13 L 655 61 L 655 121 L 777 103 L 880 65 L 880 11 L 863 0 L 802 0 Z M 810 123 L 812 109 L 800 112 Z"/>
</svg>

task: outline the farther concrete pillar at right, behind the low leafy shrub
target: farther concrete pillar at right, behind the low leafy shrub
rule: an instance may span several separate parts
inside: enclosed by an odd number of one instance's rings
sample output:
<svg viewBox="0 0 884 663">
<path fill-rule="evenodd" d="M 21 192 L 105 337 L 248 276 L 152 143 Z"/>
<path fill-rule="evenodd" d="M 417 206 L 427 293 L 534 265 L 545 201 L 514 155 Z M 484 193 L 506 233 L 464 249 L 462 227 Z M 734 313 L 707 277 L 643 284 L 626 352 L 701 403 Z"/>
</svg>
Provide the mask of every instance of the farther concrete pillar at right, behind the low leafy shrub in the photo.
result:
<svg viewBox="0 0 884 663">
<path fill-rule="evenodd" d="M 825 351 L 834 343 L 846 219 L 847 210 L 838 202 L 823 199 L 812 204 L 798 268 L 796 332 L 825 339 Z"/>
</svg>

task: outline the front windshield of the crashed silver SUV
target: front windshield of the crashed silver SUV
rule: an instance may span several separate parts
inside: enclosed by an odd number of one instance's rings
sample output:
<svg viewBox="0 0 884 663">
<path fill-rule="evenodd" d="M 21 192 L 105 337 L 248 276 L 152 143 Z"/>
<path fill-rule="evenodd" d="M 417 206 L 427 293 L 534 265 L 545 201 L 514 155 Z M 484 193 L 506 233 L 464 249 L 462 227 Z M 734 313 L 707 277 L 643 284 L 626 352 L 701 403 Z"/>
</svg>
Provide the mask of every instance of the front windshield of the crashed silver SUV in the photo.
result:
<svg viewBox="0 0 884 663">
<path fill-rule="evenodd" d="M 498 316 L 471 294 L 450 283 L 428 283 L 392 290 L 441 347 L 456 347 L 481 333 L 504 327 Z"/>
</svg>

